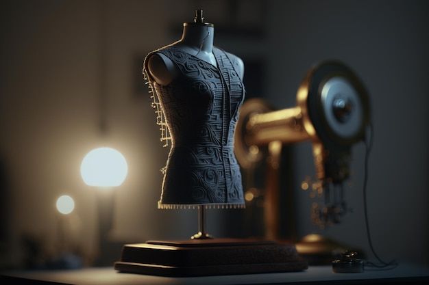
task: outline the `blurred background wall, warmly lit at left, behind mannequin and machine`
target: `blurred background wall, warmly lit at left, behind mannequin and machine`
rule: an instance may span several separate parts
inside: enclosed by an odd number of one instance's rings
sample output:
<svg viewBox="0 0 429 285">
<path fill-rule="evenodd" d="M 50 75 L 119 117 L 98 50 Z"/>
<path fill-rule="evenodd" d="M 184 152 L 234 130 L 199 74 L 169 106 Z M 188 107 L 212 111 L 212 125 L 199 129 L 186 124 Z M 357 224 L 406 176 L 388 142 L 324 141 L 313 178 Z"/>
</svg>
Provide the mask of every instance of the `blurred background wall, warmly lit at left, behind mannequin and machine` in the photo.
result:
<svg viewBox="0 0 429 285">
<path fill-rule="evenodd" d="M 95 193 L 79 177 L 84 154 L 120 150 L 130 166 L 116 189 L 116 241 L 187 238 L 195 213 L 158 211 L 167 150 L 162 149 L 143 57 L 180 38 L 193 10 L 215 23 L 215 44 L 245 61 L 249 96 L 277 108 L 295 105 L 306 70 L 340 59 L 371 95 L 375 142 L 369 169 L 373 240 L 386 259 L 428 262 L 427 1 L 2 1 L 0 4 L 0 171 L 2 263 L 21 264 L 22 237 L 53 254 L 61 193 L 75 198 L 75 236 L 97 255 Z M 248 63 L 248 64 L 247 64 Z M 100 102 L 106 103 L 106 109 Z M 100 116 L 107 131 L 99 130 Z M 362 145 L 353 150 L 346 199 L 354 208 L 323 233 L 368 251 L 362 200 Z M 294 147 L 299 236 L 320 232 L 309 218 L 314 175 L 310 144 Z M 3 198 L 4 197 L 4 198 Z M 210 230 L 228 234 L 211 213 Z M 5 217 L 5 218 L 3 218 Z M 3 261 L 4 260 L 4 261 Z"/>
</svg>

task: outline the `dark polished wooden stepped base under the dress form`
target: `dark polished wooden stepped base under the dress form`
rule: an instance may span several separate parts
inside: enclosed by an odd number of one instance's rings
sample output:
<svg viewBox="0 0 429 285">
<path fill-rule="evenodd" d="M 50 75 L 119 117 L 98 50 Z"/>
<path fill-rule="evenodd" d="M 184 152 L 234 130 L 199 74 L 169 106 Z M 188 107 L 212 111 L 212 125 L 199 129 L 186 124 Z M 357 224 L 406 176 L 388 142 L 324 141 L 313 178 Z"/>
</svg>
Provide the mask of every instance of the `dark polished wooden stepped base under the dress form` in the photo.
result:
<svg viewBox="0 0 429 285">
<path fill-rule="evenodd" d="M 245 239 L 147 241 L 124 245 L 114 269 L 169 277 L 302 271 L 295 245 Z"/>
</svg>

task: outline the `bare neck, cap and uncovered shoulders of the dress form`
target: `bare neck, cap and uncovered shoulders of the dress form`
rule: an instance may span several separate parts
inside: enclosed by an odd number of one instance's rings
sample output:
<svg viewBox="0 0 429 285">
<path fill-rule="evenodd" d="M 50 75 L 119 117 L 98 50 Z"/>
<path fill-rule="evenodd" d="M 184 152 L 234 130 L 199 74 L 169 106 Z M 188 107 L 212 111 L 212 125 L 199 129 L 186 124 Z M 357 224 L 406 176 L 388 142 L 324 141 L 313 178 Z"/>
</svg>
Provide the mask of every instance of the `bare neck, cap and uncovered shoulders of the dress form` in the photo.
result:
<svg viewBox="0 0 429 285">
<path fill-rule="evenodd" d="M 215 26 L 211 23 L 204 23 L 203 11 L 196 10 L 193 23 L 183 23 L 182 38 L 171 44 L 177 49 L 198 57 L 213 66 L 217 66 L 215 55 L 213 54 L 213 36 Z M 243 80 L 244 64 L 236 55 L 228 53 L 230 57 L 236 59 L 237 68 Z M 148 71 L 156 83 L 168 85 L 175 79 L 179 71 L 171 59 L 161 53 L 154 53 L 148 59 Z"/>
</svg>

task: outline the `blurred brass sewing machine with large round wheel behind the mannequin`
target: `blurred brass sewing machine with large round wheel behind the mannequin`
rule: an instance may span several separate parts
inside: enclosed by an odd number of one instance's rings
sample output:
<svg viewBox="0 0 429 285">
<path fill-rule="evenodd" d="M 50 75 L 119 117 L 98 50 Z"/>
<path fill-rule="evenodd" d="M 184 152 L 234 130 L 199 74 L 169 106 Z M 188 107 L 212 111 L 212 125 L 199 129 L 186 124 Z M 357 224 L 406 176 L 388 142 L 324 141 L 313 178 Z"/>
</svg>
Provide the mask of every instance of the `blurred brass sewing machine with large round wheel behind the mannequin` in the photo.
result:
<svg viewBox="0 0 429 285">
<path fill-rule="evenodd" d="M 350 68 L 330 61 L 308 71 L 297 90 L 297 106 L 273 111 L 262 99 L 247 100 L 243 105 L 234 149 L 244 169 L 268 158 L 264 197 L 267 239 L 279 239 L 278 168 L 284 144 L 312 142 L 317 182 L 306 181 L 303 186 L 311 184 L 325 198 L 324 206 L 312 209 L 312 220 L 324 227 L 339 223 L 347 212 L 343 182 L 350 176 L 351 148 L 363 140 L 369 124 L 367 97 Z M 327 241 L 311 234 L 297 244 L 297 250 L 304 256 L 326 253 L 330 247 Z"/>
</svg>

